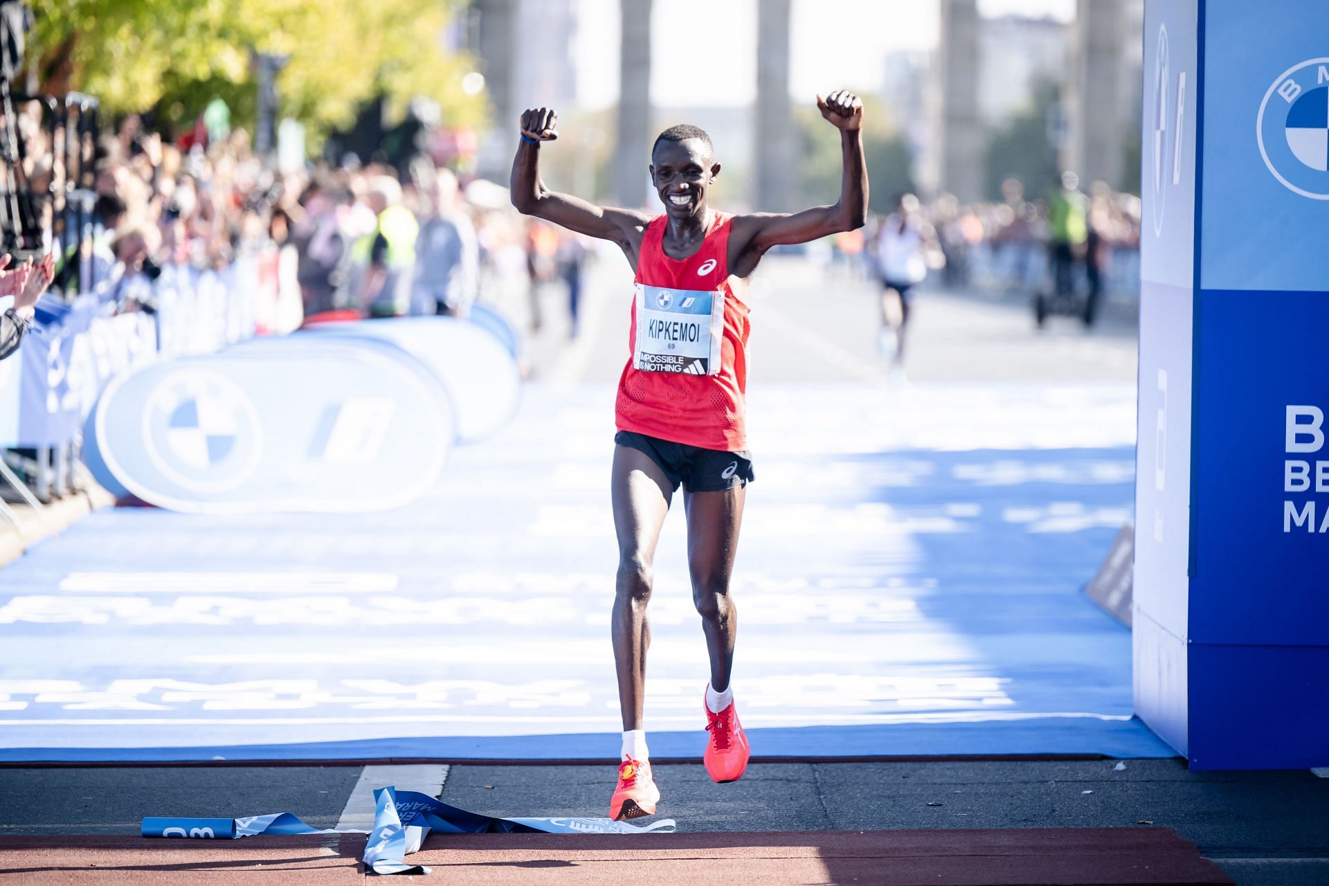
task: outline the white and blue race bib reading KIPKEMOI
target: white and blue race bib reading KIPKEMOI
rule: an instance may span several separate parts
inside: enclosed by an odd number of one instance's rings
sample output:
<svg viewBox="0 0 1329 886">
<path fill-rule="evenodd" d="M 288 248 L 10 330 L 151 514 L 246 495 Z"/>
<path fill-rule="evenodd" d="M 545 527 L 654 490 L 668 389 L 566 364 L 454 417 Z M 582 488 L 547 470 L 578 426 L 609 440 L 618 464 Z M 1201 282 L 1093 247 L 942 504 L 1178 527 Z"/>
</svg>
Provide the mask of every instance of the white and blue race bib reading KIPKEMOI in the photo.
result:
<svg viewBox="0 0 1329 886">
<path fill-rule="evenodd" d="M 666 290 L 637 284 L 633 365 L 642 372 L 720 372 L 723 290 Z"/>
</svg>

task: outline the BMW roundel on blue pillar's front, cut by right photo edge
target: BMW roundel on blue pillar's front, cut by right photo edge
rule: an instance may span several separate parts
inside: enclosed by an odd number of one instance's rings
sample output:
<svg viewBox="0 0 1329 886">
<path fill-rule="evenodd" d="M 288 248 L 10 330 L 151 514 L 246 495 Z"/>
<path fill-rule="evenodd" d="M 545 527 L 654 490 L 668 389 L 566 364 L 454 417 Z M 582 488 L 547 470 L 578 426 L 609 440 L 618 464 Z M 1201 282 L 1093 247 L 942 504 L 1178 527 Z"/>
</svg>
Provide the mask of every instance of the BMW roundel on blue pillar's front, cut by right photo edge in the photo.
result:
<svg viewBox="0 0 1329 886">
<path fill-rule="evenodd" d="M 1290 191 L 1329 201 L 1329 58 L 1288 68 L 1256 117 L 1260 155 Z"/>
</svg>

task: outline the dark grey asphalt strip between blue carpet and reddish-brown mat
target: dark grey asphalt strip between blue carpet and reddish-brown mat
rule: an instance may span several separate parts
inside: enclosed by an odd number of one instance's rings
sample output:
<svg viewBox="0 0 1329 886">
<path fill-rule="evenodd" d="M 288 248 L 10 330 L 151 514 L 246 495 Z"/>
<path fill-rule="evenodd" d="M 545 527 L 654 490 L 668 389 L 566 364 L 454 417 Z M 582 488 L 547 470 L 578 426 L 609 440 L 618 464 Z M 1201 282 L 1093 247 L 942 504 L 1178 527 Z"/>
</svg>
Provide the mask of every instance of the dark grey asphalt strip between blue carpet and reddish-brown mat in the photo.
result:
<svg viewBox="0 0 1329 886">
<path fill-rule="evenodd" d="M 412 786 L 417 766 L 369 781 Z M 145 816 L 344 816 L 360 766 L 0 769 L 0 833 L 134 834 Z M 655 769 L 659 813 L 687 832 L 1166 826 L 1239 883 L 1329 882 L 1329 778 L 1189 772 L 1177 760 L 755 764 L 716 785 L 696 764 Z M 452 805 L 496 816 L 603 816 L 610 765 L 453 765 Z M 375 784 L 373 786 L 379 786 Z M 352 804 L 354 805 L 354 804 Z M 364 805 L 363 800 L 360 805 Z"/>
</svg>

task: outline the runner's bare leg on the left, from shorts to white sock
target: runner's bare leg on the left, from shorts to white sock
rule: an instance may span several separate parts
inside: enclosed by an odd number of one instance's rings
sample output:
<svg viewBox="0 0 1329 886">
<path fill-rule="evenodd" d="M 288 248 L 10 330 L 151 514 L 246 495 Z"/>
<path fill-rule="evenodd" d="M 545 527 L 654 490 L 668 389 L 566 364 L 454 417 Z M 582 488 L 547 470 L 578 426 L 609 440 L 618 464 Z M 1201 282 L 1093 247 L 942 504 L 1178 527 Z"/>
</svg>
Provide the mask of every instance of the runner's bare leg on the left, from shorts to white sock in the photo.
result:
<svg viewBox="0 0 1329 886">
<path fill-rule="evenodd" d="M 651 627 L 646 604 L 654 583 L 653 562 L 661 527 L 672 495 L 664 472 L 646 453 L 614 446 L 610 480 L 614 531 L 618 535 L 618 579 L 614 594 L 614 665 L 618 671 L 618 704 L 623 729 L 642 728 L 646 696 L 646 650 Z"/>
</svg>

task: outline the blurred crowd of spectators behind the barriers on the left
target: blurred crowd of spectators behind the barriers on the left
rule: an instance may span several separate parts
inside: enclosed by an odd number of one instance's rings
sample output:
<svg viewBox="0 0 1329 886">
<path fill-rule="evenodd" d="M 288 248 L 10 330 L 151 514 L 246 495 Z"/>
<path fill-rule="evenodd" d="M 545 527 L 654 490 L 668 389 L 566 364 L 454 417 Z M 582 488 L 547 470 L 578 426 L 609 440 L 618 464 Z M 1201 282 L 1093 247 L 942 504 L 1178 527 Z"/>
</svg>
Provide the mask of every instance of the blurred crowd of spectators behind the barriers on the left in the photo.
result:
<svg viewBox="0 0 1329 886">
<path fill-rule="evenodd" d="M 274 251 L 280 286 L 298 294 L 304 319 L 460 316 L 486 288 L 482 278 L 518 279 L 525 299 L 545 276 L 506 189 L 462 186 L 423 154 L 404 169 L 351 154 L 280 170 L 225 120 L 199 121 L 171 141 L 132 116 L 89 142 L 90 213 L 76 219 L 70 210 L 64 230 L 84 235 L 61 243 L 49 234 L 51 194 L 64 187 L 51 151 L 58 134 L 40 125 L 40 109 L 21 109 L 19 122 L 27 185 L 61 288 L 94 292 L 109 313 L 153 311 L 163 272 L 221 270 Z"/>
</svg>

